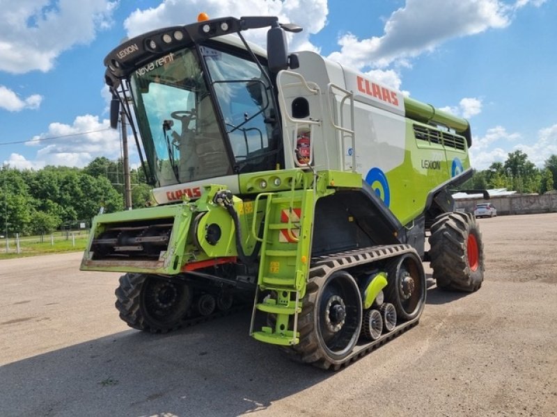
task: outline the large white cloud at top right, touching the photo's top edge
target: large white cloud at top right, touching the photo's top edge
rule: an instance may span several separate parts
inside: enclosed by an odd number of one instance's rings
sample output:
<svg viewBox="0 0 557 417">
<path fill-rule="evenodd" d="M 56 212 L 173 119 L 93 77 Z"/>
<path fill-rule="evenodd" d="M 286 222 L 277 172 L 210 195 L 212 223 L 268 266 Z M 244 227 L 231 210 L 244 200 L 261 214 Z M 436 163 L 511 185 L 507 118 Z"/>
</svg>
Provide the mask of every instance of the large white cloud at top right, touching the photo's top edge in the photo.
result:
<svg viewBox="0 0 557 417">
<path fill-rule="evenodd" d="M 528 3 L 541 6 L 544 0 L 519 0 L 513 6 L 501 0 L 407 0 L 386 20 L 383 35 L 359 40 L 346 33 L 338 40 L 340 51 L 329 58 L 359 69 L 383 68 L 433 51 L 452 38 L 504 28 L 513 12 Z"/>
</svg>

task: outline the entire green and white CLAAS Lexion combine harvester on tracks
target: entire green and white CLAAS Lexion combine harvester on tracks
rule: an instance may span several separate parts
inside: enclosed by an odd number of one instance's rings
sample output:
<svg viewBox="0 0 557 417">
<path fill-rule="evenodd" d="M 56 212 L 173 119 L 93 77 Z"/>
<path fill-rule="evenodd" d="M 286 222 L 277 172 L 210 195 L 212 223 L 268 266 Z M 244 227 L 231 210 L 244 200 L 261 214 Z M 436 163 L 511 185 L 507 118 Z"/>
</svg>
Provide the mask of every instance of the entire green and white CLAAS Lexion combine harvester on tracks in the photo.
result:
<svg viewBox="0 0 557 417">
<path fill-rule="evenodd" d="M 267 51 L 244 40 L 265 27 Z M 126 272 L 116 307 L 131 327 L 168 332 L 254 299 L 253 338 L 338 369 L 418 322 L 423 261 L 440 288 L 480 288 L 480 231 L 448 192 L 471 175 L 468 122 L 289 54 L 285 31 L 300 30 L 201 20 L 105 59 L 113 127 L 123 109 L 155 188 L 152 206 L 95 218 L 81 269 Z"/>
</svg>

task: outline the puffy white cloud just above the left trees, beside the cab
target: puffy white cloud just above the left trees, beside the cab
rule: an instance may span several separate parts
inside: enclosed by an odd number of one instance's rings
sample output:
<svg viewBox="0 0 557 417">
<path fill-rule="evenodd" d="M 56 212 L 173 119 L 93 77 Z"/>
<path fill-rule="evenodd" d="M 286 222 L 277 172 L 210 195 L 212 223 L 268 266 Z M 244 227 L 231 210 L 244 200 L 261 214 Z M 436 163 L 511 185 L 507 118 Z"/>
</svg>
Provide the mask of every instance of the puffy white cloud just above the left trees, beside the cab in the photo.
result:
<svg viewBox="0 0 557 417">
<path fill-rule="evenodd" d="M 47 132 L 33 137 L 26 145 L 38 148 L 35 158 L 12 154 L 4 163 L 35 169 L 45 165 L 84 167 L 97 156 L 120 157 L 119 131 L 110 129 L 109 120 L 100 121 L 93 115 L 78 116 L 71 125 L 51 123 Z"/>
</svg>

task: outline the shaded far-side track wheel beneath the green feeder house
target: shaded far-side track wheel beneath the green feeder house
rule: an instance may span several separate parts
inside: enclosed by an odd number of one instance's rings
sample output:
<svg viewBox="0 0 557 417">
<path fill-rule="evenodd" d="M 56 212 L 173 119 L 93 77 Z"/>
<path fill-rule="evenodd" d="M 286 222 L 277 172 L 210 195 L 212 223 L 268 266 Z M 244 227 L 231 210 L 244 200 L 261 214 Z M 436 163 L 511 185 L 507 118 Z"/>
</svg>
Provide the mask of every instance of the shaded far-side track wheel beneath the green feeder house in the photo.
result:
<svg viewBox="0 0 557 417">
<path fill-rule="evenodd" d="M 187 284 L 157 275 L 126 274 L 116 288 L 116 309 L 134 329 L 166 333 L 178 329 L 191 307 Z"/>
</svg>

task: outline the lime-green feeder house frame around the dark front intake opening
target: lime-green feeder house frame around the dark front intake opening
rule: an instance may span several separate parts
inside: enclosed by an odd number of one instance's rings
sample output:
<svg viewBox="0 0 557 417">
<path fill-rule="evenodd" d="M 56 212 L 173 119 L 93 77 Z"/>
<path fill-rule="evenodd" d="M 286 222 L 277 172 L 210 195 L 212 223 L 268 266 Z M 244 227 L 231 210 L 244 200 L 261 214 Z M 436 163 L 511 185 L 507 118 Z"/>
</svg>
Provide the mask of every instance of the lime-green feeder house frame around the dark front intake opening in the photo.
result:
<svg viewBox="0 0 557 417">
<path fill-rule="evenodd" d="M 237 247 L 233 219 L 223 206 L 212 202 L 215 193 L 223 189 L 219 185 L 207 186 L 195 202 L 97 215 L 93 219 L 91 237 L 81 262 L 81 270 L 176 275 L 185 270 L 189 263 L 226 257 L 234 259 L 237 256 Z M 242 247 L 244 252 L 251 253 L 255 245 L 255 238 L 250 233 L 254 220 L 253 203 L 233 197 L 233 205 L 242 228 Z M 256 220 L 260 218 L 260 215 L 256 216 Z M 160 219 L 168 219 L 172 223 L 172 231 L 168 246 L 161 252 L 159 259 L 95 259 L 91 249 L 93 242 L 105 231 L 121 224 L 133 227 L 136 222 L 139 224 Z M 216 243 L 210 243 L 205 238 L 207 229 L 212 224 L 218 225 L 220 231 L 220 238 Z M 196 229 L 191 230 L 193 228 Z"/>
</svg>

